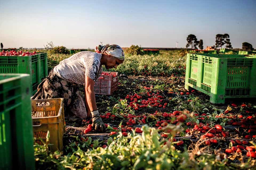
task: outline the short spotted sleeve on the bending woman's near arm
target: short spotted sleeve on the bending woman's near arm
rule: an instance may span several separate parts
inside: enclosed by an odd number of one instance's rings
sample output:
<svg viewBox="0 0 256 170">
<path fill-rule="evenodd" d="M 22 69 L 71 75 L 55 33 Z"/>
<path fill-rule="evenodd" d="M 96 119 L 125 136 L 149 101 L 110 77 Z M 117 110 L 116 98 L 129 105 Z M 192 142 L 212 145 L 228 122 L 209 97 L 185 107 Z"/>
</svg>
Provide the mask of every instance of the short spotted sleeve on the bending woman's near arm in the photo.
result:
<svg viewBox="0 0 256 170">
<path fill-rule="evenodd" d="M 94 60 L 88 60 L 85 61 L 85 63 L 85 76 L 89 77 L 94 82 L 96 82 L 98 79 L 98 74 L 100 70 L 102 70 L 100 60 L 94 58 Z"/>
</svg>

